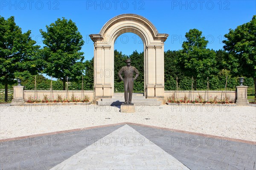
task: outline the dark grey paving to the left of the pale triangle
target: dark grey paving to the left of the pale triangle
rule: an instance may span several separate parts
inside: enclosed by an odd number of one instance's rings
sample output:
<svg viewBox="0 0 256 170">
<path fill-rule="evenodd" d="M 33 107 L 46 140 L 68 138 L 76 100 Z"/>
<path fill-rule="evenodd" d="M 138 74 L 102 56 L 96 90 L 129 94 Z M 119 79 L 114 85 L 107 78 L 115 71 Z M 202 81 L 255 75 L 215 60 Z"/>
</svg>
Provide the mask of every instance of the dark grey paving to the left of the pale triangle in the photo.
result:
<svg viewBox="0 0 256 170">
<path fill-rule="evenodd" d="M 48 170 L 121 126 L 1 142 L 0 170 Z"/>
</svg>

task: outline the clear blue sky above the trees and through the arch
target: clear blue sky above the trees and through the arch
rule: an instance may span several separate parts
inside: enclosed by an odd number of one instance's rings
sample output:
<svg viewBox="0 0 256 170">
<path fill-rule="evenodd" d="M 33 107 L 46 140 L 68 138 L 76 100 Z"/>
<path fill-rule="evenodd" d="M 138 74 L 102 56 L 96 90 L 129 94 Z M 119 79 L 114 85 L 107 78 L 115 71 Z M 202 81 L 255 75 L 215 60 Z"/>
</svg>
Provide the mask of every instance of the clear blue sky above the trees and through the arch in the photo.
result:
<svg viewBox="0 0 256 170">
<path fill-rule="evenodd" d="M 150 20 L 159 33 L 169 34 L 165 51 L 181 49 L 185 34 L 197 28 L 209 40 L 208 48 L 223 47 L 224 34 L 229 29 L 249 22 L 256 14 L 255 0 L 0 0 L 0 15 L 15 17 L 22 31 L 32 31 L 32 39 L 44 46 L 39 29 L 57 18 L 65 17 L 76 23 L 85 41 L 81 51 L 85 59 L 93 57 L 93 42 L 89 34 L 99 33 L 102 26 L 119 14 L 139 14 Z M 143 51 L 136 34 L 122 34 L 115 49 L 130 55 Z"/>
</svg>

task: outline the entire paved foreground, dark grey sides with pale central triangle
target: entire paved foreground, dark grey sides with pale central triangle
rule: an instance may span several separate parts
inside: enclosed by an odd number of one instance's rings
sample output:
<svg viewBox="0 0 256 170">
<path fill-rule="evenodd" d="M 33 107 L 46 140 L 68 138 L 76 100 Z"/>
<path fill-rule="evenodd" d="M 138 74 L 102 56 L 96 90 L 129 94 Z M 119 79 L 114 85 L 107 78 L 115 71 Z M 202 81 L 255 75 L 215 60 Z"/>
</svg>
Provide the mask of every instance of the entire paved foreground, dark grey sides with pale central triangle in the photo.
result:
<svg viewBox="0 0 256 170">
<path fill-rule="evenodd" d="M 142 125 L 1 142 L 0 169 L 256 170 L 256 145 Z"/>
</svg>

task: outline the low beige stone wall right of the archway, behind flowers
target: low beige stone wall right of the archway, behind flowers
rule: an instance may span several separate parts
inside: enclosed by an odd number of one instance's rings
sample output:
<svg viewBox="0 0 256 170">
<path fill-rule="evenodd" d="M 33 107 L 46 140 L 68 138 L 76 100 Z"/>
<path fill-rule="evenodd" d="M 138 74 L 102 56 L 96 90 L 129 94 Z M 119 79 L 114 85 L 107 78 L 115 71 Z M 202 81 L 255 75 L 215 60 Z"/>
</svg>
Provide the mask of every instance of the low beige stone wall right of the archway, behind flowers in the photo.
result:
<svg viewBox="0 0 256 170">
<path fill-rule="evenodd" d="M 201 95 L 205 100 L 209 100 L 209 98 L 214 99 L 215 96 L 217 96 L 217 99 L 224 99 L 225 91 L 208 91 L 207 93 L 206 91 L 164 91 L 164 98 L 167 100 L 169 97 L 171 97 L 174 94 L 176 97 L 176 94 L 177 94 L 176 98 L 181 99 L 181 98 L 184 98 L 186 94 L 187 97 L 191 95 L 192 100 L 193 100 L 193 96 L 194 96 L 194 99 L 197 99 L 198 95 Z M 226 91 L 226 94 L 228 97 L 230 97 L 230 100 L 232 100 L 233 102 L 236 101 L 236 91 Z M 208 99 L 207 99 L 207 96 L 209 96 Z"/>
</svg>

